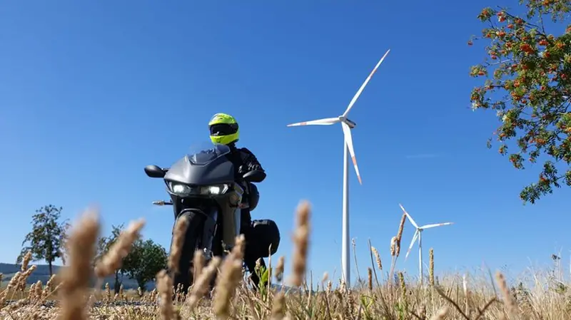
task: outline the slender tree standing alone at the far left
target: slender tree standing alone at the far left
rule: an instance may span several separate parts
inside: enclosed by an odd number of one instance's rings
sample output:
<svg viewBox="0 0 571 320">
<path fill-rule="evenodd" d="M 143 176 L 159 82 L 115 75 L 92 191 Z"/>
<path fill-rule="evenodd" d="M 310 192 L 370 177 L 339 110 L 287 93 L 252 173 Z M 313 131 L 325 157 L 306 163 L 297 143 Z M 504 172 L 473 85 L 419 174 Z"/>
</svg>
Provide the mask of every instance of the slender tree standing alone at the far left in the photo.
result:
<svg viewBox="0 0 571 320">
<path fill-rule="evenodd" d="M 31 250 L 32 259 L 45 260 L 49 265 L 50 276 L 54 273 L 52 264 L 56 258 L 64 257 L 66 229 L 69 225 L 66 221 L 59 221 L 61 210 L 62 207 L 53 205 L 36 210 L 36 214 L 32 216 L 31 232 L 26 234 L 22 242 L 23 248 L 16 263 L 20 264 L 26 252 Z"/>
</svg>

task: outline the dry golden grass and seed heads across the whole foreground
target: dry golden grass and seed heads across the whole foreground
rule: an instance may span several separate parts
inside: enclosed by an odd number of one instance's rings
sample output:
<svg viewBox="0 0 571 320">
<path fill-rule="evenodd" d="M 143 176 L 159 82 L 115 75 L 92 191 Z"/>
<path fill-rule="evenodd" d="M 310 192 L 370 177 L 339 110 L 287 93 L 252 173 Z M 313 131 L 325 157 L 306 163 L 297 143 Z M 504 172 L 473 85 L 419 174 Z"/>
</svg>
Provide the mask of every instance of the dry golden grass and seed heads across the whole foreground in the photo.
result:
<svg viewBox="0 0 571 320">
<path fill-rule="evenodd" d="M 69 239 L 69 267 L 52 277 L 48 284 L 38 282 L 26 287 L 26 279 L 34 266 L 24 258 L 21 271 L 0 291 L 0 319 L 571 319 L 571 294 L 567 284 L 552 272 L 532 274 L 527 284 L 508 284 L 500 272 L 482 272 L 480 276 L 452 275 L 438 279 L 434 276 L 434 251 L 430 249 L 428 283 L 421 287 L 413 279 L 406 279 L 395 269 L 400 253 L 400 234 L 393 237 L 390 274 L 398 276 L 398 283 L 379 279 L 383 274 L 378 249 L 369 244 L 371 252 L 368 277 L 358 289 L 347 289 L 340 282 L 337 288 L 324 274 L 315 290 L 305 282 L 305 270 L 310 247 L 310 207 L 303 202 L 298 207 L 293 242 L 293 278 L 299 286 L 296 291 L 271 289 L 270 285 L 283 284 L 285 259 L 278 259 L 268 287 L 254 292 L 248 289 L 241 260 L 243 238 L 236 239 L 236 247 L 226 259 L 212 259 L 206 265 L 197 264 L 196 286 L 188 294 L 176 291 L 167 272 L 156 277 L 157 289 L 143 294 L 141 291 L 123 291 L 116 296 L 106 290 L 88 288 L 92 274 L 109 274 L 121 265 L 121 259 L 139 236 L 143 221 L 133 222 L 121 234 L 107 257 L 103 257 L 96 270 L 89 267 L 99 222 L 93 212 L 82 216 L 75 224 Z M 183 226 L 181 226 L 181 229 Z M 173 248 L 173 256 L 180 254 Z M 197 260 L 198 262 L 198 260 Z M 171 257 L 176 265 L 176 257 Z M 438 264 L 438 261 L 436 262 Z M 271 262 L 269 262 L 271 267 Z M 218 272 L 216 287 L 209 292 L 211 279 Z M 388 277 L 386 279 L 393 279 Z M 283 287 L 282 287 L 283 288 Z M 56 297 L 54 307 L 42 306 Z M 17 300 L 5 305 L 6 300 Z M 100 304 L 94 306 L 94 302 Z M 114 306 L 113 301 L 142 301 L 142 306 Z"/>
</svg>

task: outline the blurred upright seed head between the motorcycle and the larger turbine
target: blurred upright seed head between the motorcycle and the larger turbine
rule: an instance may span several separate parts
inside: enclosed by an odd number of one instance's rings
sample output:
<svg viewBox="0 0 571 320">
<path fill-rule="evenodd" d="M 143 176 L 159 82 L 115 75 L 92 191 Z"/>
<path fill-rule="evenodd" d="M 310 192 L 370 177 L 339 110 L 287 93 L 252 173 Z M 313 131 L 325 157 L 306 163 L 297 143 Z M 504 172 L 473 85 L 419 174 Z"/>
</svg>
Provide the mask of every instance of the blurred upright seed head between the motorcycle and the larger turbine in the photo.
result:
<svg viewBox="0 0 571 320">
<path fill-rule="evenodd" d="M 293 235 L 293 279 L 292 284 L 300 287 L 305 278 L 305 267 L 307 265 L 309 233 L 310 233 L 310 205 L 303 201 L 298 206 L 296 215 L 296 227 Z"/>
</svg>

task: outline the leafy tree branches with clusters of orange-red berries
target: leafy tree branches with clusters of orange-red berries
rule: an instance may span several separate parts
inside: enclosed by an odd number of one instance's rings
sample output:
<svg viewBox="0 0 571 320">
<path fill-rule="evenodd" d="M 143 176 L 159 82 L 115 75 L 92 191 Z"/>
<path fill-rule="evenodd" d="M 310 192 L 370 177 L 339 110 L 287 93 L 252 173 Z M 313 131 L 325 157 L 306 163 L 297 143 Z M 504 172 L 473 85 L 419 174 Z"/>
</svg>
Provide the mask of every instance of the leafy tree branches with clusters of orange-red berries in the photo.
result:
<svg viewBox="0 0 571 320">
<path fill-rule="evenodd" d="M 516 169 L 543 162 L 537 182 L 520 192 L 524 204 L 533 204 L 554 187 L 571 186 L 571 25 L 555 36 L 544 23 L 563 24 L 571 1 L 520 0 L 524 4 L 524 17 L 502 8 L 485 8 L 477 16 L 487 24 L 480 37 L 487 56 L 470 75 L 486 80 L 470 100 L 473 110 L 496 111 L 499 153 Z"/>
</svg>

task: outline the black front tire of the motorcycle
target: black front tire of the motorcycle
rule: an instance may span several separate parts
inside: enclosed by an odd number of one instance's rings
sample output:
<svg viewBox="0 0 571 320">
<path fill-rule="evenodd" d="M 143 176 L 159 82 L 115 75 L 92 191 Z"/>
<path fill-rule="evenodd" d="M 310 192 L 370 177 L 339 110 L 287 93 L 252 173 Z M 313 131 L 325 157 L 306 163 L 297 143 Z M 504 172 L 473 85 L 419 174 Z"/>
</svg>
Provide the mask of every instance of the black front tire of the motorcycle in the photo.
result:
<svg viewBox="0 0 571 320">
<path fill-rule="evenodd" d="M 202 237 L 202 230 L 205 217 L 198 212 L 183 212 L 176 218 L 178 220 L 186 217 L 188 220 L 188 228 L 184 237 L 181 259 L 178 260 L 178 272 L 172 272 L 173 284 L 175 288 L 181 284 L 184 293 L 194 282 L 193 277 L 193 257 L 197 249 L 201 249 L 200 239 Z M 171 246 L 172 246 L 171 239 Z"/>
</svg>

